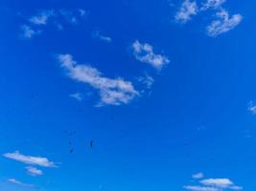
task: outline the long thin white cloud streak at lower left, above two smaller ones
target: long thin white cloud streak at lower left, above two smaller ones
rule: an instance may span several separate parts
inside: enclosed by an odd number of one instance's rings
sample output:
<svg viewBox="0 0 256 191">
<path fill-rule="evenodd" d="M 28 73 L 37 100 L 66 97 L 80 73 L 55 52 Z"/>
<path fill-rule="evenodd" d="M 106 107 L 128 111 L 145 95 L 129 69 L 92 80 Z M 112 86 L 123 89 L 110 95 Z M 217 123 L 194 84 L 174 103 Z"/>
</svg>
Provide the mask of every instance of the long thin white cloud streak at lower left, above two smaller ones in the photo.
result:
<svg viewBox="0 0 256 191">
<path fill-rule="evenodd" d="M 20 161 L 30 165 L 37 165 L 37 166 L 49 167 L 49 168 L 57 167 L 56 164 L 53 161 L 50 161 L 49 159 L 41 158 L 41 157 L 25 156 L 20 154 L 18 151 L 15 151 L 14 153 L 6 153 L 4 154 L 4 157 L 8 159 L 14 159 L 16 161 Z"/>
</svg>

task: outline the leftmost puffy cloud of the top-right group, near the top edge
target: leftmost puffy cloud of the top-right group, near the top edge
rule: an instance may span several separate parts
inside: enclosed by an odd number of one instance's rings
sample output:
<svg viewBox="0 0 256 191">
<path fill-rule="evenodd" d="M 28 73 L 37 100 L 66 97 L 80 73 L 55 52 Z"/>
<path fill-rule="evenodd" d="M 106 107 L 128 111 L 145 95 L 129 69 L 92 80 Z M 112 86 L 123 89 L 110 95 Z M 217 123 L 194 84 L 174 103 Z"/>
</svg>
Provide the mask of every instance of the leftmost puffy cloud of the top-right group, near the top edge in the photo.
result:
<svg viewBox="0 0 256 191">
<path fill-rule="evenodd" d="M 188 22 L 193 15 L 198 13 L 198 5 L 196 1 L 185 0 L 179 11 L 175 14 L 175 21 L 180 23 Z"/>
</svg>

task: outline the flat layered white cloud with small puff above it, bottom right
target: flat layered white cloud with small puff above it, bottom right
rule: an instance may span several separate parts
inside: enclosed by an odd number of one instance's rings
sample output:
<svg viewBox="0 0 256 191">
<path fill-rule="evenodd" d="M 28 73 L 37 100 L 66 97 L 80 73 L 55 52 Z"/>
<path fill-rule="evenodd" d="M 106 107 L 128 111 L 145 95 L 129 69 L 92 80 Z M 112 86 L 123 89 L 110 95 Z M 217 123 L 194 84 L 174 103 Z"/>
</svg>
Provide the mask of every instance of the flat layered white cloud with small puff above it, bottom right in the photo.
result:
<svg viewBox="0 0 256 191">
<path fill-rule="evenodd" d="M 203 174 L 193 175 L 194 179 L 202 179 Z M 204 179 L 198 181 L 199 185 L 186 185 L 183 186 L 184 189 L 189 191 L 225 191 L 233 190 L 239 191 L 243 190 L 243 187 L 236 185 L 232 180 L 223 178 L 223 179 Z"/>
</svg>

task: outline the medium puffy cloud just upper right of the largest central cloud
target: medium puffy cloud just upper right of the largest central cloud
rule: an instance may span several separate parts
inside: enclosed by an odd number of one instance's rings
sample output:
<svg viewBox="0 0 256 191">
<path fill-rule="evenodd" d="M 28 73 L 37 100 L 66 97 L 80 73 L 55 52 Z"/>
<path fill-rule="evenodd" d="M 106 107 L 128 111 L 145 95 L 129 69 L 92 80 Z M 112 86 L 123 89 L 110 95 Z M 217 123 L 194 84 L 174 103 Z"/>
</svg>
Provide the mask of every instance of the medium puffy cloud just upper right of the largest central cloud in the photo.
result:
<svg viewBox="0 0 256 191">
<path fill-rule="evenodd" d="M 142 44 L 136 40 L 132 44 L 132 50 L 137 60 L 148 63 L 157 70 L 161 70 L 164 65 L 170 63 L 165 55 L 153 53 L 153 48 L 148 43 Z"/>
</svg>

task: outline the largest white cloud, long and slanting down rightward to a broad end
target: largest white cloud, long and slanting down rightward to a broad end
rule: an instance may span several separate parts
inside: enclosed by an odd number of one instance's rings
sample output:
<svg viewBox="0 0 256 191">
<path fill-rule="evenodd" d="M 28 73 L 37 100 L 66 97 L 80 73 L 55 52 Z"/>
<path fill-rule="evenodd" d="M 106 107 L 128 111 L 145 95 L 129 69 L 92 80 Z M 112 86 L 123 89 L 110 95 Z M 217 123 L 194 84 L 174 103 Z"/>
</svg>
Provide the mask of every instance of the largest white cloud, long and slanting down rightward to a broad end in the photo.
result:
<svg viewBox="0 0 256 191">
<path fill-rule="evenodd" d="M 128 104 L 135 96 L 139 96 L 131 82 L 122 78 L 104 77 L 96 68 L 78 64 L 70 54 L 59 54 L 58 61 L 70 78 L 88 84 L 99 91 L 100 105 Z"/>
</svg>

